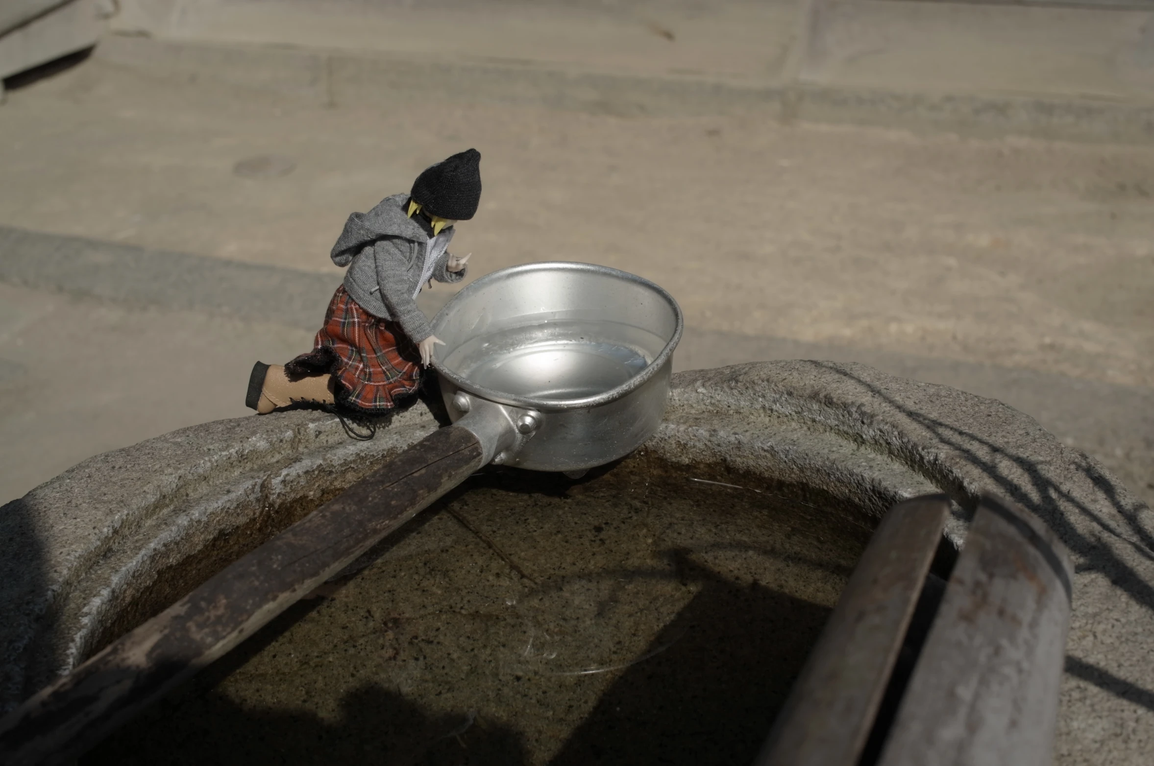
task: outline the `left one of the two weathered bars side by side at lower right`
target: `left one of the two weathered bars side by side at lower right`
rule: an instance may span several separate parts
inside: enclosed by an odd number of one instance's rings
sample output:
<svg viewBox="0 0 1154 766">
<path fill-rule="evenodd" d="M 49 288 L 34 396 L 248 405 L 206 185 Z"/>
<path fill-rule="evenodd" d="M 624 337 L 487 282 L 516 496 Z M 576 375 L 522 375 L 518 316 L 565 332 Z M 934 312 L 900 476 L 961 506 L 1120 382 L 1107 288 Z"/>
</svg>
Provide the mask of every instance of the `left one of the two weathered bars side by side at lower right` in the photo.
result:
<svg viewBox="0 0 1154 766">
<path fill-rule="evenodd" d="M 949 512 L 945 495 L 927 495 L 885 515 L 756 766 L 857 764 Z"/>
</svg>

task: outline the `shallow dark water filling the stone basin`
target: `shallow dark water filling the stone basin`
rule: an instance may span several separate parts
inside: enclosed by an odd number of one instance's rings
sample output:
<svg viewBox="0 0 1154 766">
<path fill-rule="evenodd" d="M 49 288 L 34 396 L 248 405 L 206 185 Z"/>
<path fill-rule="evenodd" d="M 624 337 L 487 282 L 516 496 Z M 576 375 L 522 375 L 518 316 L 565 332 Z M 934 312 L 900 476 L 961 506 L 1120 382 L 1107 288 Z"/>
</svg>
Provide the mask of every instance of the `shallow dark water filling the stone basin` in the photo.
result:
<svg viewBox="0 0 1154 766">
<path fill-rule="evenodd" d="M 752 763 L 869 536 L 782 491 L 473 476 L 82 766 Z"/>
</svg>

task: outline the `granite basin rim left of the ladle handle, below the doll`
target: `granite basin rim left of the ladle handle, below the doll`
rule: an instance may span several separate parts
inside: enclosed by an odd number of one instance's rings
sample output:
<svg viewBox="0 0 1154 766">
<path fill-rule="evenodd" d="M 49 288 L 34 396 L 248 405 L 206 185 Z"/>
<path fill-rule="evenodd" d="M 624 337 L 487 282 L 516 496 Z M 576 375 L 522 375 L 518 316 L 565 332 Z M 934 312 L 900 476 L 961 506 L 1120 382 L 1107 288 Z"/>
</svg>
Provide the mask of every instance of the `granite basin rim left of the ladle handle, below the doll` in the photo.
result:
<svg viewBox="0 0 1154 766">
<path fill-rule="evenodd" d="M 0 705 L 83 661 L 165 570 L 203 550 L 227 563 L 436 425 L 414 406 L 362 442 L 320 412 L 220 420 L 98 455 L 0 508 Z"/>
</svg>

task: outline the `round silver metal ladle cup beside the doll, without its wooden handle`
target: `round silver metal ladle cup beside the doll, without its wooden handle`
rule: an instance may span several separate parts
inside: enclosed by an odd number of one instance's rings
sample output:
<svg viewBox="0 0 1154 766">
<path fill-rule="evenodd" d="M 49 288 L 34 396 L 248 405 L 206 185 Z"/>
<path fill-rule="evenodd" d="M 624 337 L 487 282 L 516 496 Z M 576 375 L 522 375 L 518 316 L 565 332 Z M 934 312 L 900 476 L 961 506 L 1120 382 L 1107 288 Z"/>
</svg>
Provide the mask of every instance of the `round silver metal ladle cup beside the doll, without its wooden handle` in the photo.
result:
<svg viewBox="0 0 1154 766">
<path fill-rule="evenodd" d="M 652 436 L 681 331 L 647 279 L 564 262 L 481 277 L 433 321 L 449 416 L 485 463 L 534 471 L 605 465 Z"/>
</svg>

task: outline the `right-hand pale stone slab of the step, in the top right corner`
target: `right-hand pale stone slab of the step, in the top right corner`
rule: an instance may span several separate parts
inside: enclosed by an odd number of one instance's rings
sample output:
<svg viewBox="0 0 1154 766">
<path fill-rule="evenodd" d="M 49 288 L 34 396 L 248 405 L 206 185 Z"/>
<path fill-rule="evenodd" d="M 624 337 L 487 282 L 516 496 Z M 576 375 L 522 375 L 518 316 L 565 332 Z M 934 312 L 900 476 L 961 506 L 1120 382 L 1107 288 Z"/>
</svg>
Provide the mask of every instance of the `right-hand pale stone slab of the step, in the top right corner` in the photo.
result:
<svg viewBox="0 0 1154 766">
<path fill-rule="evenodd" d="M 803 82 L 912 92 L 1154 102 L 1144 9 L 815 0 Z"/>
</svg>

